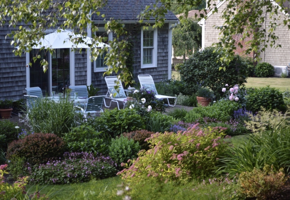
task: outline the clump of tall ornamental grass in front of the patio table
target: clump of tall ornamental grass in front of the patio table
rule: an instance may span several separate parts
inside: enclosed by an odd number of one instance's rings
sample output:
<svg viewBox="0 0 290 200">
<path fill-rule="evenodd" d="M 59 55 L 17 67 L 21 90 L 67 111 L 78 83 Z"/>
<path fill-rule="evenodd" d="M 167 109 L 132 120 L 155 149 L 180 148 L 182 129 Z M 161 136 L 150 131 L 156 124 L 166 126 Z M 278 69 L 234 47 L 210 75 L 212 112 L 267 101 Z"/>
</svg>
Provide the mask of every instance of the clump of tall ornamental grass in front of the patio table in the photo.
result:
<svg viewBox="0 0 290 200">
<path fill-rule="evenodd" d="M 38 99 L 26 113 L 25 120 L 33 132 L 54 133 L 61 136 L 77 126 L 82 117 L 73 108 L 68 98 L 55 102 L 47 98 Z"/>
</svg>

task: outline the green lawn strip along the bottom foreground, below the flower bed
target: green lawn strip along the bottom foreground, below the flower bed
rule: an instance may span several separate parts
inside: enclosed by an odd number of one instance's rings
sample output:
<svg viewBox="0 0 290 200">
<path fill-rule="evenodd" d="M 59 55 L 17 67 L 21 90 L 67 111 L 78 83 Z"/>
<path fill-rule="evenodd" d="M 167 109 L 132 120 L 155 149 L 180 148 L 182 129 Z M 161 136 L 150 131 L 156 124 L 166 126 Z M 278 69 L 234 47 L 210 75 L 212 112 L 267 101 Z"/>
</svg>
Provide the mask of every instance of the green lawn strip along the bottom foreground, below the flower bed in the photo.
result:
<svg viewBox="0 0 290 200">
<path fill-rule="evenodd" d="M 121 200 L 122 197 L 117 196 L 117 187 L 122 183 L 119 177 L 113 177 L 103 180 L 94 180 L 88 183 L 78 183 L 71 185 L 56 186 L 28 186 L 28 193 L 33 194 L 37 189 L 41 189 L 41 194 L 48 195 L 50 199 L 70 200 L 70 199 L 98 199 L 98 200 Z M 200 199 L 211 200 L 220 199 L 225 195 L 222 191 L 223 186 L 214 183 L 209 184 L 208 181 L 198 183 L 193 181 L 187 184 L 175 185 L 173 183 L 156 183 L 152 180 L 140 182 L 130 186 L 129 195 L 135 200 L 168 200 L 168 199 Z M 52 194 L 55 193 L 55 194 Z"/>
</svg>

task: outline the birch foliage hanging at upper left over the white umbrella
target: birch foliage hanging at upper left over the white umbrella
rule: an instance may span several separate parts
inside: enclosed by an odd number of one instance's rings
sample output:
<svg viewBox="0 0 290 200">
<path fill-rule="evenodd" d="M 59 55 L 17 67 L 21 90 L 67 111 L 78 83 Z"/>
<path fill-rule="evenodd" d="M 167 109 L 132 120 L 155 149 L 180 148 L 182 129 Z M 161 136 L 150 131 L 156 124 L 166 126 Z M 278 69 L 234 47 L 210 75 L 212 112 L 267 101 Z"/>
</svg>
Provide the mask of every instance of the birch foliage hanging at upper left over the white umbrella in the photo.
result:
<svg viewBox="0 0 290 200">
<path fill-rule="evenodd" d="M 105 6 L 106 1 L 103 0 L 0 0 L 0 26 L 9 25 L 12 31 L 7 34 L 6 38 L 12 38 L 11 45 L 19 46 L 13 52 L 15 55 L 23 55 L 23 52 L 30 52 L 32 46 L 36 45 L 36 41 L 45 36 L 45 30 L 48 29 L 72 29 L 75 34 L 80 34 L 82 37 L 75 39 L 73 42 L 78 44 L 84 42 L 87 36 L 87 27 L 90 26 L 92 31 L 93 43 L 90 46 L 91 61 L 96 60 L 99 54 L 109 52 L 105 57 L 105 64 L 108 70 L 104 74 L 119 74 L 118 78 L 127 84 L 127 79 L 132 75 L 126 68 L 126 58 L 128 53 L 127 32 L 124 29 L 124 24 L 117 20 L 110 20 L 105 24 L 107 33 L 113 31 L 114 39 L 109 41 L 110 50 L 108 47 L 93 48 L 97 42 L 104 42 L 108 38 L 97 37 L 93 34 L 98 31 L 91 20 L 92 14 L 106 17 L 100 13 L 100 10 Z M 50 51 L 53 49 L 40 50 Z M 81 52 L 81 49 L 73 49 Z M 33 61 L 36 61 L 40 56 L 31 58 L 27 66 L 31 66 Z M 41 66 L 44 72 L 48 68 L 47 60 L 41 61 Z"/>
</svg>

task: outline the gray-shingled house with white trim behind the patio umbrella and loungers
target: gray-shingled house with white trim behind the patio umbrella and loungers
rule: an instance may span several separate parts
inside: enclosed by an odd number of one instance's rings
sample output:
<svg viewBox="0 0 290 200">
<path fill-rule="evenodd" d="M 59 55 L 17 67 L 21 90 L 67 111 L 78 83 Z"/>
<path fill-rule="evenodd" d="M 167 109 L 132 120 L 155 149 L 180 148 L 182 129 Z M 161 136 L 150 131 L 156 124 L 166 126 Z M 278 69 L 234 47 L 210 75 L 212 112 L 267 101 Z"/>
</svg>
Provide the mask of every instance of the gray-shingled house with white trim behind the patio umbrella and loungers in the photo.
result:
<svg viewBox="0 0 290 200">
<path fill-rule="evenodd" d="M 92 20 L 98 26 L 96 35 L 106 35 L 104 25 L 107 20 L 119 19 L 125 24 L 125 28 L 131 34 L 130 41 L 133 44 L 133 77 L 139 74 L 151 74 L 156 82 L 171 78 L 171 55 L 172 55 L 172 28 L 178 22 L 177 17 L 171 12 L 165 15 L 165 24 L 162 28 L 143 30 L 145 24 L 138 22 L 138 15 L 146 5 L 155 3 L 155 0 L 143 1 L 115 1 L 108 0 L 106 8 L 99 10 L 106 18 L 93 15 Z M 152 25 L 155 19 L 150 19 Z M 151 26 L 152 27 L 152 26 Z M 15 28 L 17 29 L 17 27 Z M 40 87 L 43 93 L 50 94 L 58 91 L 63 83 L 63 72 L 65 81 L 70 85 L 90 85 L 100 88 L 101 94 L 105 94 L 106 83 L 103 73 L 104 55 L 99 56 L 95 62 L 91 62 L 86 53 L 71 52 L 70 49 L 56 49 L 52 55 L 43 52 L 41 57 L 49 61 L 47 73 L 44 73 L 38 62 L 32 67 L 26 67 L 32 55 L 37 52 L 33 50 L 30 54 L 22 57 L 14 56 L 14 46 L 10 46 L 11 39 L 5 39 L 6 35 L 14 30 L 13 27 L 3 26 L 0 28 L 0 100 L 21 99 L 27 87 Z M 47 30 L 47 33 L 55 30 Z M 88 36 L 91 35 L 88 29 Z M 113 40 L 110 32 L 108 40 Z M 143 46 L 145 40 L 153 41 L 149 46 Z M 64 59 L 63 59 L 64 58 Z M 63 64 L 65 62 L 65 64 Z M 59 64 L 61 63 L 61 64 Z M 63 70 L 64 66 L 65 70 Z"/>
</svg>

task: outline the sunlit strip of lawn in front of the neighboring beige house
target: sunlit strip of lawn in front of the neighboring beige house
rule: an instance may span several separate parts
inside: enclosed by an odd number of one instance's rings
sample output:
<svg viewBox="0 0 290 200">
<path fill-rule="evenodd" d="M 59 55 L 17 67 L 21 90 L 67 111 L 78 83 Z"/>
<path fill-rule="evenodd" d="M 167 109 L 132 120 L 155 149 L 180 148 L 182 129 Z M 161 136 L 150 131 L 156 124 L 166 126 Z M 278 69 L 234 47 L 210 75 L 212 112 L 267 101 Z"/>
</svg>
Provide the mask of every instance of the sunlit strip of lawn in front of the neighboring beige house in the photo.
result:
<svg viewBox="0 0 290 200">
<path fill-rule="evenodd" d="M 271 88 L 276 88 L 284 92 L 285 90 L 290 89 L 290 79 L 277 77 L 269 77 L 269 78 L 248 77 L 247 83 L 245 85 L 246 87 L 252 88 L 262 88 L 269 85 Z"/>
</svg>

